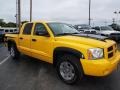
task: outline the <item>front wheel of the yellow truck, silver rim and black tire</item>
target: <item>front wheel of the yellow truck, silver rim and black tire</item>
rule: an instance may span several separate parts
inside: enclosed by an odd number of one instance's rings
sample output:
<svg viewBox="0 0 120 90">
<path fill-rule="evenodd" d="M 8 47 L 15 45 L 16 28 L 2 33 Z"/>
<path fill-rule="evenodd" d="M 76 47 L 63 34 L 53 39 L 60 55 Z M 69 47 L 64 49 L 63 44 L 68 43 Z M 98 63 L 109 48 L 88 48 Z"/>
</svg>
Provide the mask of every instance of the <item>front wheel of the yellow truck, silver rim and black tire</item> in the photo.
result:
<svg viewBox="0 0 120 90">
<path fill-rule="evenodd" d="M 80 60 L 72 54 L 64 54 L 58 59 L 57 74 L 66 84 L 75 84 L 83 76 Z"/>
</svg>

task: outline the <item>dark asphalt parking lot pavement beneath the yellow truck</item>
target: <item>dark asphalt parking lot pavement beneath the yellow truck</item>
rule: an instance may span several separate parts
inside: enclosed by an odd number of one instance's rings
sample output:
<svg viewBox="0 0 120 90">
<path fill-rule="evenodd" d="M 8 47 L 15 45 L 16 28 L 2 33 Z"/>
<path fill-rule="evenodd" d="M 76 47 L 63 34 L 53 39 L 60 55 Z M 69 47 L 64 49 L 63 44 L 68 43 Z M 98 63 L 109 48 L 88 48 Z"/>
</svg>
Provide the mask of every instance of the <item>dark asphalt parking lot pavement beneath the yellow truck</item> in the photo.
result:
<svg viewBox="0 0 120 90">
<path fill-rule="evenodd" d="M 120 70 L 102 78 L 86 76 L 78 84 L 70 86 L 58 78 L 52 65 L 25 55 L 12 60 L 7 48 L 0 44 L 0 90 L 90 89 L 120 90 Z"/>
</svg>

